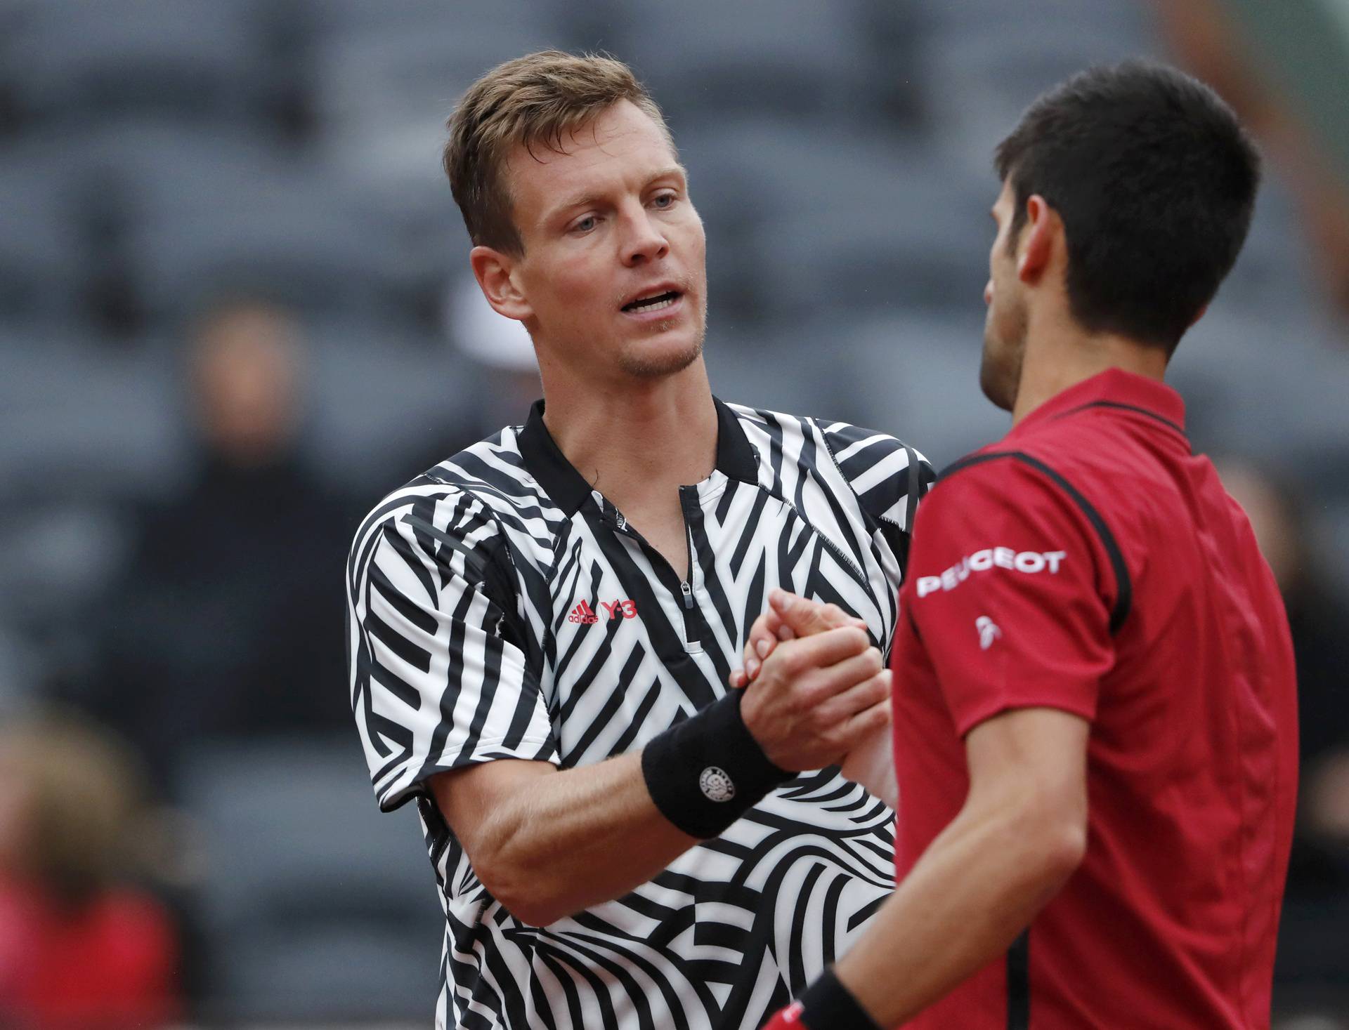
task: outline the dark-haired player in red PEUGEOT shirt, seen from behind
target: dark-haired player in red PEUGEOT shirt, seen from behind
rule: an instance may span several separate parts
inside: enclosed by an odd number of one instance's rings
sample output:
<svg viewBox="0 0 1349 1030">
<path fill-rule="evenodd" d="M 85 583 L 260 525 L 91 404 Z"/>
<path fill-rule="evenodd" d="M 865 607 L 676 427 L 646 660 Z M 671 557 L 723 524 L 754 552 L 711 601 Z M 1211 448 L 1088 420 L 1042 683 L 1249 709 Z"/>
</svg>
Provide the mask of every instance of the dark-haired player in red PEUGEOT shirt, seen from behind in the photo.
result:
<svg viewBox="0 0 1349 1030">
<path fill-rule="evenodd" d="M 1126 63 L 1037 100 L 997 169 L 981 382 L 1013 427 L 915 527 L 900 884 L 769 1026 L 1267 1027 L 1292 650 L 1163 382 L 1241 249 L 1257 155 L 1206 86 Z"/>
</svg>

